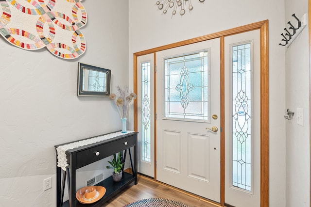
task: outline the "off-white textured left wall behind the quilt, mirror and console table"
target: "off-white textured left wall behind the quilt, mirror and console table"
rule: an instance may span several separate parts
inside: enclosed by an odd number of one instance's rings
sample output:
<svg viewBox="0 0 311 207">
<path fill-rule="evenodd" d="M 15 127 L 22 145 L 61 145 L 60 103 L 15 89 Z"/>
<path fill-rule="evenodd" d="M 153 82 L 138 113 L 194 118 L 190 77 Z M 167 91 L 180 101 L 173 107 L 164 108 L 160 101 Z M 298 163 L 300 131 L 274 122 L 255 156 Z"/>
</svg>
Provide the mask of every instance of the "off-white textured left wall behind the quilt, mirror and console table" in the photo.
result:
<svg viewBox="0 0 311 207">
<path fill-rule="evenodd" d="M 57 3 L 57 1 L 56 1 Z M 0 37 L 0 207 L 55 206 L 54 145 L 121 129 L 108 97 L 78 97 L 78 62 L 111 69 L 128 85 L 128 1 L 84 0 L 85 54 L 59 59 Z M 43 191 L 43 179 L 53 187 Z"/>
</svg>

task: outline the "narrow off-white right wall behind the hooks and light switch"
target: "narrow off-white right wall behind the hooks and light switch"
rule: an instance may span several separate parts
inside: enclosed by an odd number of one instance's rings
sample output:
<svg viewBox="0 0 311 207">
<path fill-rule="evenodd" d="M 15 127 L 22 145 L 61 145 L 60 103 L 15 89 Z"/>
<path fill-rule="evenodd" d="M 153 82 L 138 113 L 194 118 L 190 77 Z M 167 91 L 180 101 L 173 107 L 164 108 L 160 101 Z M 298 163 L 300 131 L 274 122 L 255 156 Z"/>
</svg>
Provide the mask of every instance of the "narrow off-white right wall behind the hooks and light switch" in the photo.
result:
<svg viewBox="0 0 311 207">
<path fill-rule="evenodd" d="M 285 22 L 296 24 L 308 14 L 308 0 L 285 0 Z M 289 28 L 289 25 L 285 25 Z M 291 30 L 289 30 L 291 31 Z M 308 26 L 285 48 L 286 109 L 294 111 L 286 121 L 286 207 L 310 207 L 310 68 Z M 297 124 L 297 108 L 303 109 L 303 126 Z"/>
</svg>

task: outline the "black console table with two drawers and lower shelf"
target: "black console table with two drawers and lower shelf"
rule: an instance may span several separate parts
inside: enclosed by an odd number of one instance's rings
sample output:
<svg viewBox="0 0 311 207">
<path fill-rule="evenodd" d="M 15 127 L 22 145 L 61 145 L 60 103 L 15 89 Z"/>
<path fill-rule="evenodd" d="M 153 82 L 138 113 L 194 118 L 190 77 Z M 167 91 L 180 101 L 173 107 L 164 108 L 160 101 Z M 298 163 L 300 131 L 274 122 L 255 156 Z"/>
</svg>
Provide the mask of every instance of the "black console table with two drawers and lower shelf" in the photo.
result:
<svg viewBox="0 0 311 207">
<path fill-rule="evenodd" d="M 66 156 L 68 159 L 68 166 L 66 167 L 66 171 L 63 171 L 62 168 L 56 167 L 56 207 L 100 207 L 104 202 L 112 198 L 126 186 L 131 183 L 137 184 L 137 134 L 138 132 L 131 132 L 127 134 L 120 134 L 120 136 L 110 138 L 104 141 L 100 141 L 97 143 L 87 144 L 85 146 L 76 147 L 73 149 L 69 149 L 66 151 Z M 108 135 L 108 134 L 104 134 Z M 99 136 L 104 136 L 99 135 Z M 99 137 L 96 136 L 96 137 Z M 92 139 L 95 137 L 90 137 L 83 140 Z M 79 142 L 80 140 L 76 141 Z M 71 143 L 76 143 L 71 142 Z M 55 145 L 55 149 L 61 145 L 65 145 L 69 143 L 63 143 L 59 145 Z M 134 148 L 134 166 L 133 160 L 131 156 L 130 148 Z M 123 170 L 122 179 L 120 182 L 114 182 L 112 180 L 112 176 L 109 176 L 102 182 L 96 184 L 96 186 L 104 186 L 106 189 L 106 193 L 103 198 L 93 204 L 81 204 L 76 199 L 76 170 L 84 167 L 90 163 L 95 161 L 104 159 L 118 152 L 122 152 L 123 159 L 125 160 L 127 152 L 130 155 L 132 174 L 125 173 Z M 57 166 L 57 153 L 56 153 L 56 166 Z M 63 177 L 61 177 L 61 172 L 63 171 Z M 69 191 L 69 201 L 63 203 L 64 197 L 64 189 L 66 184 L 68 184 Z"/>
</svg>

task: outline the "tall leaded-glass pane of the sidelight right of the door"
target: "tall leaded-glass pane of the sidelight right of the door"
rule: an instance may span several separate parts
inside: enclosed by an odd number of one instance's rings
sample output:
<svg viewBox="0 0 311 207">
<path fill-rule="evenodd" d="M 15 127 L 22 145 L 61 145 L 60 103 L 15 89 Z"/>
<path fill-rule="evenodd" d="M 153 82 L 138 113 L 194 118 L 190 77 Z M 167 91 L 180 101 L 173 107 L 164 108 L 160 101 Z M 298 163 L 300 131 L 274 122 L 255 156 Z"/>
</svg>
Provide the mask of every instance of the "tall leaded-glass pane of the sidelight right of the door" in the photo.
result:
<svg viewBox="0 0 311 207">
<path fill-rule="evenodd" d="M 252 191 L 252 57 L 251 43 L 232 52 L 232 186 Z"/>
</svg>

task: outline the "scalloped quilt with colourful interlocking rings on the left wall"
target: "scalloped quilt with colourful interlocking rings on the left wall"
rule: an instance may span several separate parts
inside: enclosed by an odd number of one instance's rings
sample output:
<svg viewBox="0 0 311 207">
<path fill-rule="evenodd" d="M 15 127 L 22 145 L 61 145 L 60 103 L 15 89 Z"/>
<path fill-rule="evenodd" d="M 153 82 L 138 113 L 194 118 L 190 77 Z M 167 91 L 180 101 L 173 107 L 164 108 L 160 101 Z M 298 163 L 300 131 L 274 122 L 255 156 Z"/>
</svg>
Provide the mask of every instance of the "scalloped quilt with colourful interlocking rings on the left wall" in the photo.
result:
<svg viewBox="0 0 311 207">
<path fill-rule="evenodd" d="M 86 50 L 80 28 L 86 24 L 81 0 L 0 0 L 0 34 L 26 50 L 48 48 L 74 59 Z"/>
</svg>

